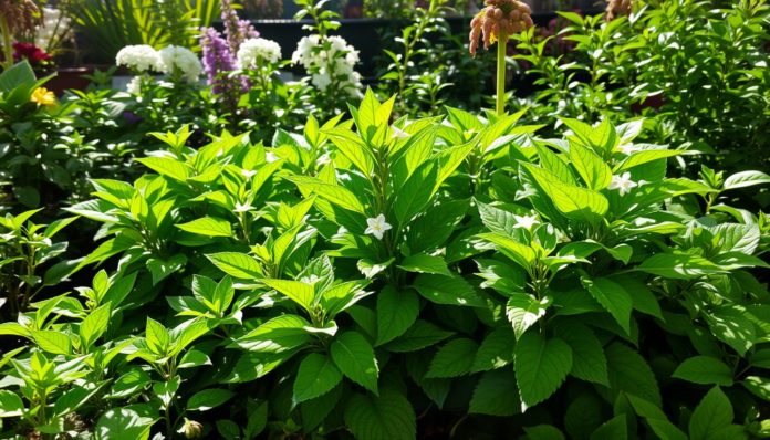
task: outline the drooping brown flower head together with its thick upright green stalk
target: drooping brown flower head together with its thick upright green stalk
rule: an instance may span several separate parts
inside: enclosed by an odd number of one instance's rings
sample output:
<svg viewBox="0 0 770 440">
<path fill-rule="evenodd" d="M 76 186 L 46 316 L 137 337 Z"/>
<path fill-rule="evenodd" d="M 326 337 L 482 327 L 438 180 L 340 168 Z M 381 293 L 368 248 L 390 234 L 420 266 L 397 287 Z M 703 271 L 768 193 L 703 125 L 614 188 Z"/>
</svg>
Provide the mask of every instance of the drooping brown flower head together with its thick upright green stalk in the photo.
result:
<svg viewBox="0 0 770 440">
<path fill-rule="evenodd" d="M 470 22 L 470 53 L 476 55 L 479 39 L 483 49 L 498 43 L 497 113 L 506 113 L 506 54 L 509 36 L 533 25 L 531 9 L 519 0 L 486 0 Z"/>
</svg>

